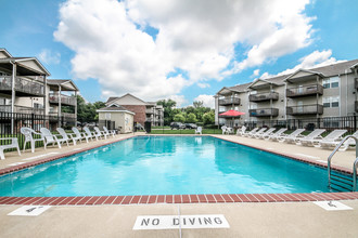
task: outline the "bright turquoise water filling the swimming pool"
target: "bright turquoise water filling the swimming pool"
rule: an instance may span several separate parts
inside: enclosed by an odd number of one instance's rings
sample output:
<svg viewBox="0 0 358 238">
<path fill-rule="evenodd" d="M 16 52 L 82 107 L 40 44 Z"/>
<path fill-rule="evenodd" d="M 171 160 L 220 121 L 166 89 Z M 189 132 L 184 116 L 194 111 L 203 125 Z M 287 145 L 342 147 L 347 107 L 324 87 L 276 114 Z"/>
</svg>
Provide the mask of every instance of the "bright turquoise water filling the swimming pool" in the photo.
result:
<svg viewBox="0 0 358 238">
<path fill-rule="evenodd" d="M 324 169 L 212 136 L 138 136 L 3 175 L 0 196 L 311 193 L 327 185 Z"/>
</svg>

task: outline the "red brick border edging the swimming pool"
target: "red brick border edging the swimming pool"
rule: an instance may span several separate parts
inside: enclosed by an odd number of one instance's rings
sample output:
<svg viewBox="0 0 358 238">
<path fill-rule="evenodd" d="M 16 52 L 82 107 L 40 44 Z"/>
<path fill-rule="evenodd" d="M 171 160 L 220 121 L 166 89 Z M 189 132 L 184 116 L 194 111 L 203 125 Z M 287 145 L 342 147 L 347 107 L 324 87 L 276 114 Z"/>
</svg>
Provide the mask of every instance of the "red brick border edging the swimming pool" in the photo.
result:
<svg viewBox="0 0 358 238">
<path fill-rule="evenodd" d="M 140 135 L 132 135 L 119 138 L 105 145 L 91 146 L 76 151 L 65 153 L 0 170 L 0 175 L 35 167 L 49 161 L 57 160 L 67 156 L 76 155 L 93 148 L 103 147 L 116 142 Z M 157 136 L 157 135 L 156 135 Z M 213 135 L 209 135 L 213 136 Z M 215 137 L 215 136 L 214 136 Z M 264 148 L 241 144 L 231 140 L 220 138 L 239 145 L 260 149 L 271 154 L 280 155 L 289 159 L 311 163 L 327 168 L 327 164 L 319 163 L 305 158 L 266 150 Z M 346 168 L 332 168 L 340 172 L 350 173 Z M 358 191 L 350 193 L 312 193 L 312 194 L 201 194 L 201 195 L 143 195 L 143 196 L 78 196 L 78 197 L 0 197 L 0 204 L 42 204 L 42 206 L 99 206 L 99 204 L 151 204 L 151 203 L 230 203 L 230 202 L 302 202 L 302 201 L 325 201 L 325 200 L 356 200 Z"/>
</svg>

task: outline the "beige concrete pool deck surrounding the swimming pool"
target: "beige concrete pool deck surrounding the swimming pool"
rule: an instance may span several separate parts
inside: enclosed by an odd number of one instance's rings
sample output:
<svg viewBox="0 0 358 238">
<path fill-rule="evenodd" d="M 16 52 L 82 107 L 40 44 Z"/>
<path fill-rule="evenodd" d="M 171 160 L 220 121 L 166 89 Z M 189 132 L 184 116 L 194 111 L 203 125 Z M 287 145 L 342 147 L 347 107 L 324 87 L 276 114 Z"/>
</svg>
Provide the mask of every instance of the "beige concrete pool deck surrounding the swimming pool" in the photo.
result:
<svg viewBox="0 0 358 238">
<path fill-rule="evenodd" d="M 16 153 L 7 153 L 7 159 L 0 160 L 0 170 L 25 164 L 10 166 L 17 162 L 44 162 L 49 157 L 87 150 L 132 135 L 117 135 L 106 141 L 63 146 L 62 149 L 39 148 L 34 154 L 25 151 L 21 157 Z M 332 151 L 332 149 L 287 145 L 235 135 L 214 136 L 322 166 Z M 47 156 L 41 157 L 43 154 Z M 333 164 L 351 171 L 355 158 L 354 149 L 338 151 Z M 8 213 L 21 206 L 2 204 L 0 237 L 357 237 L 358 193 L 350 194 L 354 195 L 353 200 L 340 200 L 354 209 L 346 211 L 325 211 L 311 201 L 151 204 L 137 202 L 137 204 L 53 206 L 39 216 L 8 216 Z M 354 199 L 356 196 L 357 198 Z M 230 228 L 132 230 L 138 215 L 178 214 L 223 214 Z"/>
</svg>

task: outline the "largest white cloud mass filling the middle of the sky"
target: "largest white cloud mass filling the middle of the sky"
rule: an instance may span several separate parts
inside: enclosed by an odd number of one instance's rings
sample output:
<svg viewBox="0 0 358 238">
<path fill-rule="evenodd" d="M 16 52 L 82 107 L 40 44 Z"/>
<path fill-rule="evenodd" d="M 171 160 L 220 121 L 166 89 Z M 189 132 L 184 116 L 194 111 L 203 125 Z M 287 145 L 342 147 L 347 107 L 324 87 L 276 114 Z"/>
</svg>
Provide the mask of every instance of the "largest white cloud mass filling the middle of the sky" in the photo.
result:
<svg viewBox="0 0 358 238">
<path fill-rule="evenodd" d="M 74 76 L 97 78 L 104 96 L 130 92 L 152 101 L 308 45 L 311 18 L 303 13 L 308 3 L 67 0 L 54 38 L 75 52 Z M 158 30 L 155 40 L 144 30 L 149 26 Z M 248 51 L 235 52 L 238 44 Z M 235 62 L 242 54 L 245 60 Z M 188 77 L 167 78 L 176 69 Z"/>
</svg>

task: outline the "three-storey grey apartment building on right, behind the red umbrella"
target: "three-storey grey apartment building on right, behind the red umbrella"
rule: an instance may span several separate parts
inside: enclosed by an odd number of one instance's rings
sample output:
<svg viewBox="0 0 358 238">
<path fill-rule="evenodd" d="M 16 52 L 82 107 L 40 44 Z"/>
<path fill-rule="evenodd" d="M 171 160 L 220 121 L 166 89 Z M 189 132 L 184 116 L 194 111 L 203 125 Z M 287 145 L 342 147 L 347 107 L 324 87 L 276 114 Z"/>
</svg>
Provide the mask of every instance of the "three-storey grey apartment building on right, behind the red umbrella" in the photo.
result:
<svg viewBox="0 0 358 238">
<path fill-rule="evenodd" d="M 215 95 L 217 124 L 345 117 L 358 114 L 358 60 L 225 87 Z M 219 114 L 229 109 L 240 117 Z"/>
</svg>

